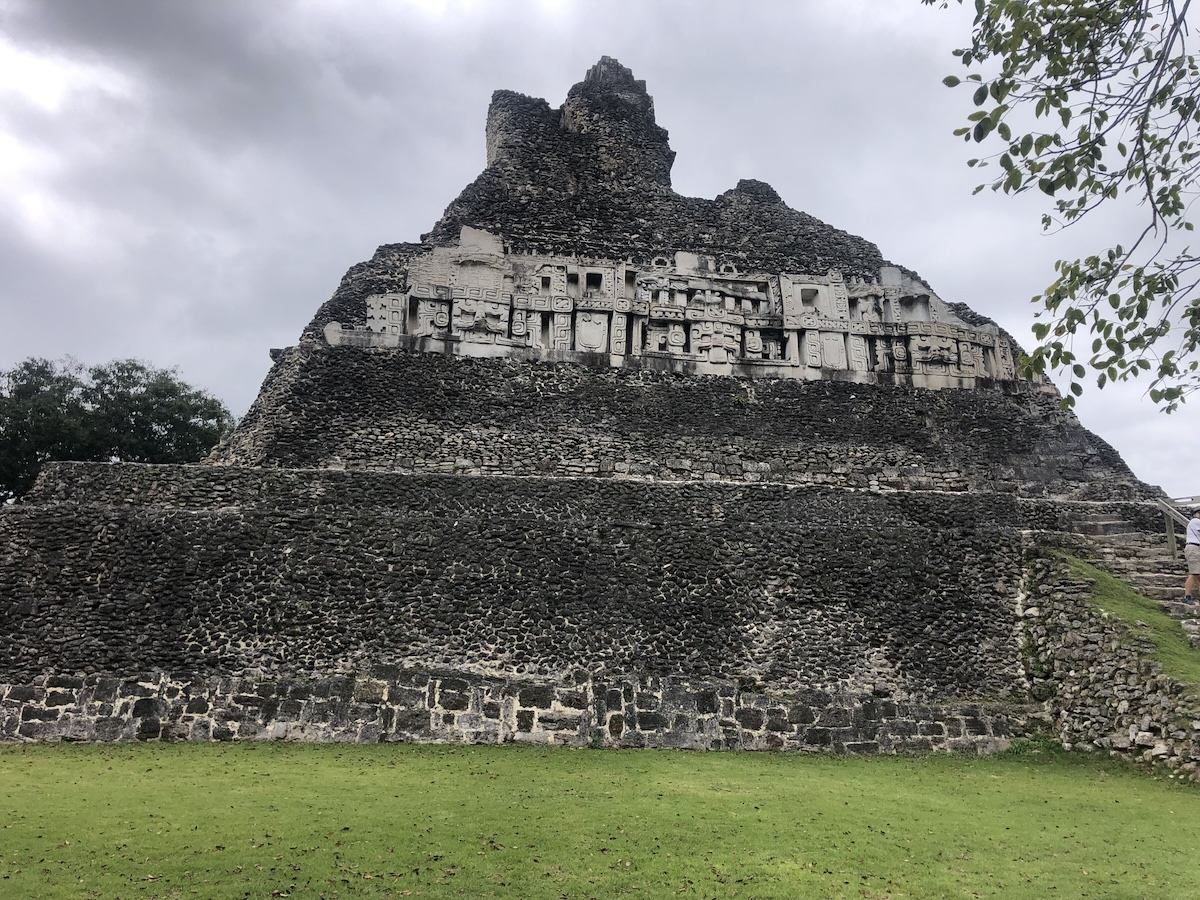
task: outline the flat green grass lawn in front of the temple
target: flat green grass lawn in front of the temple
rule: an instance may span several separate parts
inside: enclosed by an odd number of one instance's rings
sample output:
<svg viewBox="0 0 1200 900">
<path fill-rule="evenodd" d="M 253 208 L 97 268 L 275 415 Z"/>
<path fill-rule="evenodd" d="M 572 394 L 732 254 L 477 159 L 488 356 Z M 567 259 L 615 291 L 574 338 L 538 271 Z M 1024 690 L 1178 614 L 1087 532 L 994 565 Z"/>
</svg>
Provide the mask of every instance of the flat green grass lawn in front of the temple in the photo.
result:
<svg viewBox="0 0 1200 900">
<path fill-rule="evenodd" d="M 1198 844 L 1055 751 L 0 746 L 2 898 L 1194 898 Z"/>
</svg>

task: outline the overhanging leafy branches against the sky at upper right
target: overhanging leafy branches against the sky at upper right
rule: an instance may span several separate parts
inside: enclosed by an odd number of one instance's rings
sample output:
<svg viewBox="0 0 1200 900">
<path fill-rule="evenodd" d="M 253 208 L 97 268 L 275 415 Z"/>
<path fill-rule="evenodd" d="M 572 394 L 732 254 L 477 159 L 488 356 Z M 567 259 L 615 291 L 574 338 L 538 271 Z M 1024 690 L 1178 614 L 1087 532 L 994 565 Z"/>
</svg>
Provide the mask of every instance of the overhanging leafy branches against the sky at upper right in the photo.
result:
<svg viewBox="0 0 1200 900">
<path fill-rule="evenodd" d="M 1189 6 L 974 0 L 971 46 L 955 50 L 972 71 L 944 79 L 973 92 L 976 109 L 955 133 L 990 150 L 968 164 L 998 168 L 977 192 L 1040 191 L 1046 230 L 1120 198 L 1138 205 L 1128 241 L 1060 260 L 1033 298 L 1039 343 L 1022 365 L 1068 372 L 1068 406 L 1090 374 L 1100 388 L 1148 376 L 1165 412 L 1200 388 L 1200 254 L 1187 245 L 1200 188 Z"/>
</svg>

